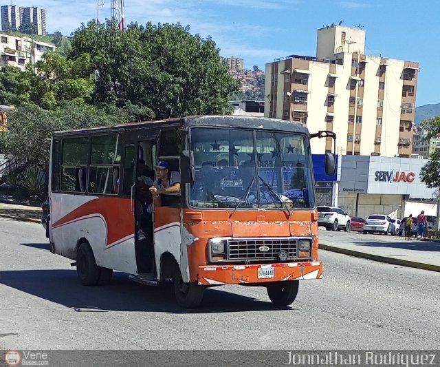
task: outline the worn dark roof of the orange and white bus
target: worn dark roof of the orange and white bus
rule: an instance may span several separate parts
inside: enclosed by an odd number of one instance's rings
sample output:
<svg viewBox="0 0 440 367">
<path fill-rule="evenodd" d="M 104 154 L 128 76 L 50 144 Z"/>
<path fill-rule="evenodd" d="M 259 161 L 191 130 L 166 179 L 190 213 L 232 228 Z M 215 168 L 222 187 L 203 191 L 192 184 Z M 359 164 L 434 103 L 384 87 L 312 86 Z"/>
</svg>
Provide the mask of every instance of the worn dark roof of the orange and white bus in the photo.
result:
<svg viewBox="0 0 440 367">
<path fill-rule="evenodd" d="M 135 123 L 124 123 L 120 125 L 89 127 L 87 129 L 65 130 L 54 132 L 54 136 L 66 134 L 81 134 L 90 132 L 118 132 L 121 129 L 142 129 L 142 127 L 232 127 L 243 129 L 267 129 L 285 132 L 296 132 L 309 134 L 307 127 L 292 121 L 278 120 L 276 118 L 254 117 L 254 116 L 234 116 L 234 115 L 208 115 L 208 116 L 189 116 L 183 118 L 169 118 L 167 120 L 151 120 Z"/>
</svg>

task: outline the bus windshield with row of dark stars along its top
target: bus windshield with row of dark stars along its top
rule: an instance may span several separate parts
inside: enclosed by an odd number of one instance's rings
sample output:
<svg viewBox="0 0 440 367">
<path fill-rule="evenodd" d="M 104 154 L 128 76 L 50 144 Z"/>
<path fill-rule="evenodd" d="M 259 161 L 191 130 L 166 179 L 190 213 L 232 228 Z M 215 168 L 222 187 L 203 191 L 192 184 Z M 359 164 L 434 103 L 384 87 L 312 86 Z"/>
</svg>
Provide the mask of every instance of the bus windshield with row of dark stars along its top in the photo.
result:
<svg viewBox="0 0 440 367">
<path fill-rule="evenodd" d="M 195 127 L 191 149 L 192 207 L 315 207 L 309 140 L 303 135 Z"/>
</svg>

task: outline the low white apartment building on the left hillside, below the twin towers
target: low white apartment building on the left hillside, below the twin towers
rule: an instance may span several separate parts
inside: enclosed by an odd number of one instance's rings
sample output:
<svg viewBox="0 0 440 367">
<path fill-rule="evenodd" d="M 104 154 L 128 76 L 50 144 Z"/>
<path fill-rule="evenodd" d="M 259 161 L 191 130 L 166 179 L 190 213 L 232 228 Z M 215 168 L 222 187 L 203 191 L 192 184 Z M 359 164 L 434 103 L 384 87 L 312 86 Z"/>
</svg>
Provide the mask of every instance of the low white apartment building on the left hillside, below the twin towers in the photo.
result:
<svg viewBox="0 0 440 367">
<path fill-rule="evenodd" d="M 36 63 L 45 52 L 55 49 L 56 46 L 52 43 L 0 33 L 0 66 L 17 66 L 25 70 L 25 65 Z"/>
</svg>

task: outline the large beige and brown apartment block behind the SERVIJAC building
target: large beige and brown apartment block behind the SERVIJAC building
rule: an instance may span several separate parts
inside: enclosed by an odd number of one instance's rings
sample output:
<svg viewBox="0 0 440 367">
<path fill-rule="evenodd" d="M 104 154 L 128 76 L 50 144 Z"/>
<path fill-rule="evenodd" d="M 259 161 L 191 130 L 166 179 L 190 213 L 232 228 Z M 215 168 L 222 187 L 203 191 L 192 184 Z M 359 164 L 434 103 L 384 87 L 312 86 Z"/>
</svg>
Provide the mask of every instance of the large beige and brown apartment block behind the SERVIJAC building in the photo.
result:
<svg viewBox="0 0 440 367">
<path fill-rule="evenodd" d="M 364 30 L 334 25 L 318 30 L 317 57 L 266 64 L 265 116 L 335 132 L 338 154 L 410 157 L 419 65 L 364 48 Z M 313 140 L 312 153 L 331 145 Z"/>
</svg>

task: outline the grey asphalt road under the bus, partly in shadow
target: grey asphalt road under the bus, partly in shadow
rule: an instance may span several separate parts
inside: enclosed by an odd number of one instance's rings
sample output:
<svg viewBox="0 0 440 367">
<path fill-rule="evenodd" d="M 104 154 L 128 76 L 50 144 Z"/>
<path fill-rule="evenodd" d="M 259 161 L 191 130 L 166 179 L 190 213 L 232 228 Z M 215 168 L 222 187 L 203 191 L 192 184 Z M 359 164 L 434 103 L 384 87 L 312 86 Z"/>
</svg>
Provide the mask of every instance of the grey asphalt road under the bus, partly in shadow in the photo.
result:
<svg viewBox="0 0 440 367">
<path fill-rule="evenodd" d="M 301 282 L 292 308 L 274 308 L 263 288 L 223 286 L 186 311 L 123 273 L 81 286 L 41 225 L 0 219 L 0 348 L 439 347 L 440 273 L 327 251 L 321 260 L 324 279 Z"/>
</svg>

